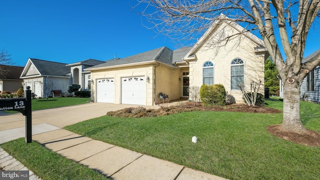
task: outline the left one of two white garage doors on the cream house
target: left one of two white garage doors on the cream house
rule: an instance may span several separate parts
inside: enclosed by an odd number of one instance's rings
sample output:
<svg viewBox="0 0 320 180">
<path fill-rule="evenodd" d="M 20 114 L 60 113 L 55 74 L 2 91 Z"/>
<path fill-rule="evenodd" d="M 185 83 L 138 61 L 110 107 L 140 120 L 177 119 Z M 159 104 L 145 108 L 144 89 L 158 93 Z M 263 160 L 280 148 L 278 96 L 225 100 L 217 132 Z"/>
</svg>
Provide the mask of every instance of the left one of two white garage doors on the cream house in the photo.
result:
<svg viewBox="0 0 320 180">
<path fill-rule="evenodd" d="M 114 103 L 114 79 L 97 79 L 96 101 Z"/>
</svg>

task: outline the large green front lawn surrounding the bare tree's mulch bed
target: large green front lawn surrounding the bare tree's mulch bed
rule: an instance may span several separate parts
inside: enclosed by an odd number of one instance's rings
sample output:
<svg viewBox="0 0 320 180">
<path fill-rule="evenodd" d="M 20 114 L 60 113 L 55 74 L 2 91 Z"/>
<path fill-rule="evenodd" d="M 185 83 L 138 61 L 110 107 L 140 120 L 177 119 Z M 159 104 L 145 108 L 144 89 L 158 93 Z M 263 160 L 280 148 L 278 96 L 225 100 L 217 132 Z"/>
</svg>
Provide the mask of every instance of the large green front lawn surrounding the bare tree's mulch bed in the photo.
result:
<svg viewBox="0 0 320 180">
<path fill-rule="evenodd" d="M 280 108 L 282 101 L 266 100 Z M 301 102 L 306 128 L 320 131 L 320 106 Z M 319 147 L 280 139 L 265 128 L 282 113 L 193 111 L 150 118 L 102 116 L 65 129 L 228 179 L 318 179 Z M 197 143 L 191 137 L 198 138 Z"/>
</svg>

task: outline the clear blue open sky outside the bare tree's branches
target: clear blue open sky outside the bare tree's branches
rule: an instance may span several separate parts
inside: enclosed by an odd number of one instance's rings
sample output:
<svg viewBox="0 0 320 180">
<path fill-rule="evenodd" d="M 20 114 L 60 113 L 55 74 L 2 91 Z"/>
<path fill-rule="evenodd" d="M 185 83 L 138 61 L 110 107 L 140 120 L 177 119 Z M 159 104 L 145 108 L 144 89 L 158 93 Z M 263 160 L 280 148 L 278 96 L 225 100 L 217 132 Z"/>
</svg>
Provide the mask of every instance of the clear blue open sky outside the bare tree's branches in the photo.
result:
<svg viewBox="0 0 320 180">
<path fill-rule="evenodd" d="M 73 63 L 179 47 L 168 37 L 154 37 L 129 0 L 3 0 L 0 17 L 0 48 L 20 66 L 29 57 Z M 318 28 L 311 29 L 304 56 L 320 48 Z"/>
</svg>

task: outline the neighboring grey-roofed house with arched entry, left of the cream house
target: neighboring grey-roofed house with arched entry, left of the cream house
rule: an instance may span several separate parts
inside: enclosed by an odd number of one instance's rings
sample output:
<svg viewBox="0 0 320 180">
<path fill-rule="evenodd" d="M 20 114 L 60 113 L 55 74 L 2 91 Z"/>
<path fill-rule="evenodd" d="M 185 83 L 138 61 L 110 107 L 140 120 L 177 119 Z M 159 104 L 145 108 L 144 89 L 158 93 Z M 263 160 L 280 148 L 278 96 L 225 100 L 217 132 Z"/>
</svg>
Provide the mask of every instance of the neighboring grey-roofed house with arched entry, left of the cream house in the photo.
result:
<svg viewBox="0 0 320 180">
<path fill-rule="evenodd" d="M 72 83 L 81 85 L 82 90 L 90 86 L 90 74 L 83 69 L 104 61 L 87 59 L 76 63 L 65 64 L 47 60 L 29 58 L 20 78 L 25 86 L 30 86 L 38 97 L 51 95 L 51 90 L 58 93 L 67 92 L 67 86 Z"/>
</svg>

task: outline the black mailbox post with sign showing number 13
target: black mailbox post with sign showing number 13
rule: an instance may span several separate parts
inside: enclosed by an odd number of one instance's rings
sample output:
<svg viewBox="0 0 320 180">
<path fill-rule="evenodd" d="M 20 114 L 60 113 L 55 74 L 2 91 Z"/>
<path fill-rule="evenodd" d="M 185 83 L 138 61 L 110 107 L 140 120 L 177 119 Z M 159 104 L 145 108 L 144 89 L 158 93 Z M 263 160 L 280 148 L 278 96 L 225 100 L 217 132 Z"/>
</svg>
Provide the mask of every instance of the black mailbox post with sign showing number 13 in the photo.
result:
<svg viewBox="0 0 320 180">
<path fill-rule="evenodd" d="M 31 90 L 26 86 L 24 97 L 0 99 L 0 110 L 15 110 L 25 116 L 25 142 L 32 141 Z"/>
</svg>

